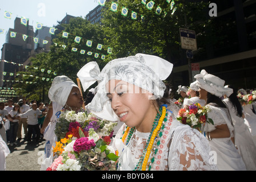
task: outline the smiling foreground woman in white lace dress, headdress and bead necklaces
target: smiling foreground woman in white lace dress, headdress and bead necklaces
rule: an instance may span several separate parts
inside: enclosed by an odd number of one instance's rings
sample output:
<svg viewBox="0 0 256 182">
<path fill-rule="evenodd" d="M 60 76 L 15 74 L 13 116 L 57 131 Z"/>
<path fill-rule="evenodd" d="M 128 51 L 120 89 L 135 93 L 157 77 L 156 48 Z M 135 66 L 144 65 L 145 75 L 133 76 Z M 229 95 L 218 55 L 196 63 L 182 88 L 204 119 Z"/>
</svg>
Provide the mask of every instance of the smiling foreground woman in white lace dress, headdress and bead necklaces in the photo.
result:
<svg viewBox="0 0 256 182">
<path fill-rule="evenodd" d="M 99 71 L 90 62 L 79 71 L 83 89 L 98 81 L 87 107 L 98 117 L 123 126 L 113 140 L 118 170 L 215 170 L 207 139 L 182 125 L 158 101 L 173 64 L 157 56 L 137 54 L 115 59 Z M 83 74 L 81 74 L 83 73 Z M 122 138 L 122 139 L 120 139 Z"/>
</svg>

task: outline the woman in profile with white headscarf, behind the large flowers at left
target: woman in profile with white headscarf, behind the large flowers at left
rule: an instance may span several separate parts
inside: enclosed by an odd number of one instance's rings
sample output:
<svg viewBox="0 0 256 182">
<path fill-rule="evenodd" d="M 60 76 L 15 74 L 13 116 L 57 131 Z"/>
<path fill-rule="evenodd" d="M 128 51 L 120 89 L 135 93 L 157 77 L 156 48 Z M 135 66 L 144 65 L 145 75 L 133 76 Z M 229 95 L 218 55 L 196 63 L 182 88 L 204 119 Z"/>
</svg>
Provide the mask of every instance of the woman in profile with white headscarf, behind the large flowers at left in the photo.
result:
<svg viewBox="0 0 256 182">
<path fill-rule="evenodd" d="M 41 129 L 45 144 L 45 160 L 41 164 L 41 170 L 45 171 L 53 163 L 53 147 L 57 141 L 55 126 L 58 122 L 61 110 L 78 111 L 83 105 L 83 97 L 79 87 L 66 76 L 57 76 L 53 79 L 48 96 L 52 101 Z"/>
</svg>

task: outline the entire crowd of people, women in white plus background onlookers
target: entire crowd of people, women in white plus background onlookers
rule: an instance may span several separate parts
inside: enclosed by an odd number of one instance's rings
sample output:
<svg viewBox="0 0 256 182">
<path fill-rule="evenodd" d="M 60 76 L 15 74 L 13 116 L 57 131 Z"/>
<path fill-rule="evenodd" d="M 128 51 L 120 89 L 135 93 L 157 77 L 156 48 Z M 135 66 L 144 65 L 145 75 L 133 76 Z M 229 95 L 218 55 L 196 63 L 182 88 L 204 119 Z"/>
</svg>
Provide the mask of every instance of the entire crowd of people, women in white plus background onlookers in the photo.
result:
<svg viewBox="0 0 256 182">
<path fill-rule="evenodd" d="M 254 102 L 241 104 L 238 90 L 205 70 L 189 86 L 178 86 L 180 98 L 174 99 L 170 85 L 163 82 L 172 69 L 173 64 L 160 57 L 139 53 L 112 60 L 102 71 L 90 62 L 77 73 L 84 91 L 98 81 L 84 109 L 121 123 L 111 142 L 119 156 L 117 170 L 256 170 Z M 59 112 L 78 112 L 84 106 L 81 89 L 66 76 L 54 78 L 48 96 L 48 107 L 42 103 L 30 107 L 26 100 L 21 106 L 11 100 L 6 107 L 0 103 L 4 125 L 10 122 L 9 130 L 0 129 L 6 143 L 15 145 L 22 125 L 28 141 L 33 131 L 37 141 L 43 134 L 41 170 L 54 160 Z M 193 129 L 177 120 L 180 109 L 195 103 L 209 109 L 207 117 L 213 124 Z"/>
</svg>

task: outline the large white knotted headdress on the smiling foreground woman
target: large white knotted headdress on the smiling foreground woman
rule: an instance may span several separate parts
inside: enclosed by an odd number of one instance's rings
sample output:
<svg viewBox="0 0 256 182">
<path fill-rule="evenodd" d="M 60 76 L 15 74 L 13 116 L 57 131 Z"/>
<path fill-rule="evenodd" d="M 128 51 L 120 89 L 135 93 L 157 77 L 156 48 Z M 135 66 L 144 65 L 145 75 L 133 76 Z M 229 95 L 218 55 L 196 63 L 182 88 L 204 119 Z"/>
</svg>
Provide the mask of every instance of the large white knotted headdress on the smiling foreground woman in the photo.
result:
<svg viewBox="0 0 256 182">
<path fill-rule="evenodd" d="M 118 117 L 107 97 L 106 84 L 109 80 L 126 81 L 153 93 L 155 98 L 162 98 L 166 88 L 162 80 L 170 75 L 172 69 L 173 64 L 160 57 L 138 53 L 112 60 L 102 71 L 96 62 L 89 62 L 79 70 L 77 76 L 84 91 L 98 81 L 95 96 L 86 109 L 103 119 L 117 121 Z"/>
</svg>

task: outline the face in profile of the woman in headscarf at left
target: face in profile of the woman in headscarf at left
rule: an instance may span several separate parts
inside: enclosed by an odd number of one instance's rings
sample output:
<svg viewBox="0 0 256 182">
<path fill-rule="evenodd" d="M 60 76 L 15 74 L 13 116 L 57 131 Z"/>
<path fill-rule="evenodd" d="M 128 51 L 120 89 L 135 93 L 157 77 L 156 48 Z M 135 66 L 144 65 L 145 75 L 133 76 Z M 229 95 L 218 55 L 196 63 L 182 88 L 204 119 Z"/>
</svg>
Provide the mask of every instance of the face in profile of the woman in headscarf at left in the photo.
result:
<svg viewBox="0 0 256 182">
<path fill-rule="evenodd" d="M 73 86 L 70 91 L 69 97 L 67 98 L 66 104 L 72 108 L 72 110 L 81 109 L 83 105 L 83 97 L 79 88 Z"/>
</svg>

